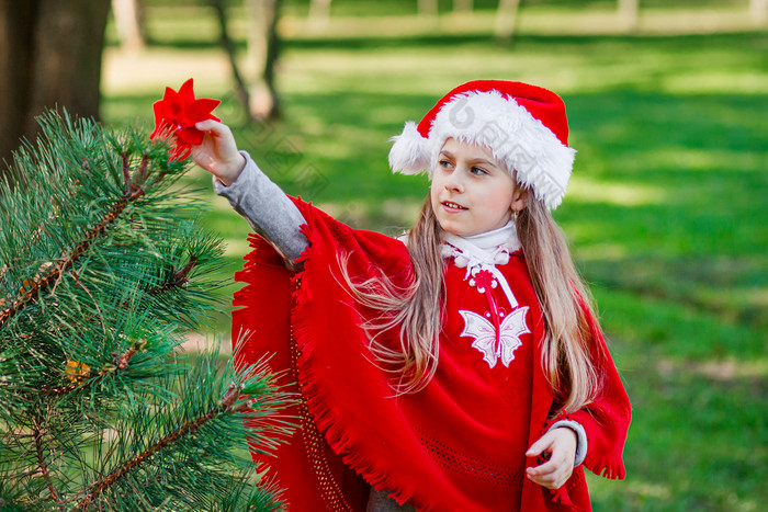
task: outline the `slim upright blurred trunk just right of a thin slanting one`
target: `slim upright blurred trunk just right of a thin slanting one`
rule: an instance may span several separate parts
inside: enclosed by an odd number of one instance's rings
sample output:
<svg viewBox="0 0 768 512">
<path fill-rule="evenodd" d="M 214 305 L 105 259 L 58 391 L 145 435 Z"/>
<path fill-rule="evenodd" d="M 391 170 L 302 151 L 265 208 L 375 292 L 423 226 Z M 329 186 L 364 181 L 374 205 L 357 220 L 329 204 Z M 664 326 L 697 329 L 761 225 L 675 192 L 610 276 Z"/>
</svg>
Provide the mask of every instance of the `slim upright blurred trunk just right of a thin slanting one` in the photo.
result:
<svg viewBox="0 0 768 512">
<path fill-rule="evenodd" d="M 250 92 L 250 113 L 259 120 L 278 115 L 278 94 L 274 88 L 274 67 L 278 61 L 279 0 L 246 0 L 250 30 L 248 54 L 256 70 L 256 83 Z"/>
</svg>

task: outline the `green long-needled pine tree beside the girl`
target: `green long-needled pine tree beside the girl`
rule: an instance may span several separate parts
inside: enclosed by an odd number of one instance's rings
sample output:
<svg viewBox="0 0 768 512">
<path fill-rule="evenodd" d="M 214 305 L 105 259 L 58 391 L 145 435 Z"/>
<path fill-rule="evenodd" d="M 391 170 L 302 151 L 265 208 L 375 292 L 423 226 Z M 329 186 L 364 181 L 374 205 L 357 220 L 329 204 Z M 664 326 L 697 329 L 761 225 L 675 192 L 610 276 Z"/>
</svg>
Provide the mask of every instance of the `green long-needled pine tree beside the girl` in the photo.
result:
<svg viewBox="0 0 768 512">
<path fill-rule="evenodd" d="M 242 446 L 284 436 L 285 394 L 173 356 L 222 264 L 197 202 L 166 186 L 187 159 L 140 129 L 42 124 L 18 157 L 30 186 L 0 201 L 0 509 L 274 510 Z"/>
</svg>

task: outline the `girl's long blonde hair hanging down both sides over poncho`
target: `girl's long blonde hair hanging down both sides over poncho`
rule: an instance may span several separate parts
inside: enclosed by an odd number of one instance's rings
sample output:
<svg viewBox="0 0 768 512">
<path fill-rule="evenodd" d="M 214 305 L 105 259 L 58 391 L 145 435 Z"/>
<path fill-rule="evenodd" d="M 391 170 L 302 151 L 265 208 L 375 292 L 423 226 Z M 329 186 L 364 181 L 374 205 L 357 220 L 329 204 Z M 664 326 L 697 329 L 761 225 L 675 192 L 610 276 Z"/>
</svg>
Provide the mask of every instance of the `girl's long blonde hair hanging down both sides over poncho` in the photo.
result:
<svg viewBox="0 0 768 512">
<path fill-rule="evenodd" d="M 600 388 L 595 357 L 602 354 L 587 317 L 594 317 L 590 296 L 561 229 L 533 194 L 516 225 L 546 325 L 541 365 L 558 408 L 573 412 L 588 405 Z M 445 297 L 442 242 L 443 231 L 428 196 L 406 242 L 414 265 L 410 286 L 398 287 L 386 275 L 353 283 L 346 264 L 341 265 L 352 296 L 380 314 L 363 328 L 376 362 L 397 375 L 393 387 L 398 394 L 423 389 L 437 369 Z M 394 328 L 399 328 L 399 349 L 380 341 L 380 334 Z"/>
</svg>

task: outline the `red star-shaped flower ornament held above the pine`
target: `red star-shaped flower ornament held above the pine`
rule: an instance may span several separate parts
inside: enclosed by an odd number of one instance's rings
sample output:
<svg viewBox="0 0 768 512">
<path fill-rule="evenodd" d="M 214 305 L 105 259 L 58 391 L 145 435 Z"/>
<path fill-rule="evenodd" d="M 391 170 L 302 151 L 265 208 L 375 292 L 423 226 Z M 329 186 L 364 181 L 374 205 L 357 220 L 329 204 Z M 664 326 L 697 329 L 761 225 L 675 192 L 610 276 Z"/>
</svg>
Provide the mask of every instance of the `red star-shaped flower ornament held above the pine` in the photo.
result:
<svg viewBox="0 0 768 512">
<path fill-rule="evenodd" d="M 194 127 L 195 123 L 205 120 L 222 121 L 211 113 L 219 103 L 219 100 L 207 98 L 195 100 L 191 78 L 179 88 L 179 92 L 167 87 L 162 100 L 153 105 L 155 130 L 149 138 L 173 138 L 171 159 L 184 159 L 189 157 L 192 146 L 201 144 L 205 136 Z"/>
</svg>

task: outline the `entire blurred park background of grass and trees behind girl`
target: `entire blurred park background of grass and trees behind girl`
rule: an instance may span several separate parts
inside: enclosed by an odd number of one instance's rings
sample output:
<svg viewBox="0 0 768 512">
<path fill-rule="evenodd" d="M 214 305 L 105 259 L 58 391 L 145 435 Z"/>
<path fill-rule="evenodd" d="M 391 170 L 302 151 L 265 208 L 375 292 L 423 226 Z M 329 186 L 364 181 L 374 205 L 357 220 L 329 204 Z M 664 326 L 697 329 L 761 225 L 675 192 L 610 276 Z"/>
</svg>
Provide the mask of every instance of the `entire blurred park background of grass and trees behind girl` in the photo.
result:
<svg viewBox="0 0 768 512">
<path fill-rule="evenodd" d="M 0 158 L 44 105 L 149 126 L 163 88 L 193 77 L 287 193 L 397 234 L 428 189 L 387 168 L 406 120 L 472 79 L 552 89 L 578 150 L 555 217 L 634 408 L 626 481 L 590 477 L 595 509 L 765 508 L 768 1 L 138 4 L 0 0 Z M 210 197 L 234 273 L 248 225 L 203 171 L 187 184 Z"/>
</svg>

